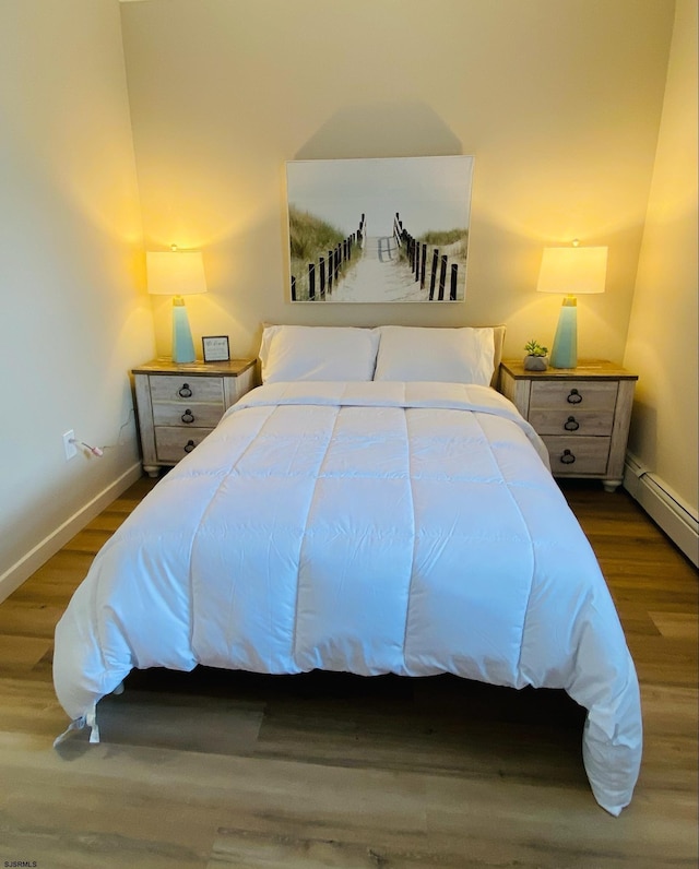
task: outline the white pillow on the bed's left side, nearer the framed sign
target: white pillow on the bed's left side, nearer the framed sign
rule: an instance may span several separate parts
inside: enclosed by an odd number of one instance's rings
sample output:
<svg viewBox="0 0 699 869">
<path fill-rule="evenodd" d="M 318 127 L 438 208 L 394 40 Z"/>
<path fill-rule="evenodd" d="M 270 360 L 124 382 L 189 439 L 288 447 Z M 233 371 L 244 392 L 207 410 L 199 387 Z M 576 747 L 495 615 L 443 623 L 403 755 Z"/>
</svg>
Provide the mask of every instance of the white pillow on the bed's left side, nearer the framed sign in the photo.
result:
<svg viewBox="0 0 699 869">
<path fill-rule="evenodd" d="M 262 382 L 371 380 L 379 333 L 353 326 L 271 325 L 262 331 Z"/>
</svg>

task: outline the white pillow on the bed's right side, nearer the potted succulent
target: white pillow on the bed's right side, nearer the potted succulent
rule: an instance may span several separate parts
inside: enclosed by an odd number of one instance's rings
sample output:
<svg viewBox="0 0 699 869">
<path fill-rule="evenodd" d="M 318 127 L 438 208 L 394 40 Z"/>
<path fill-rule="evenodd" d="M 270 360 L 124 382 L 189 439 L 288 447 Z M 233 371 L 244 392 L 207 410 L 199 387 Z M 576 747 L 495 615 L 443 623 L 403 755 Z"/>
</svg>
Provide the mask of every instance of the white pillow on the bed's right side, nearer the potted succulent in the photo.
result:
<svg viewBox="0 0 699 869">
<path fill-rule="evenodd" d="M 433 380 L 488 386 L 495 367 L 493 328 L 380 326 L 375 380 Z"/>
</svg>

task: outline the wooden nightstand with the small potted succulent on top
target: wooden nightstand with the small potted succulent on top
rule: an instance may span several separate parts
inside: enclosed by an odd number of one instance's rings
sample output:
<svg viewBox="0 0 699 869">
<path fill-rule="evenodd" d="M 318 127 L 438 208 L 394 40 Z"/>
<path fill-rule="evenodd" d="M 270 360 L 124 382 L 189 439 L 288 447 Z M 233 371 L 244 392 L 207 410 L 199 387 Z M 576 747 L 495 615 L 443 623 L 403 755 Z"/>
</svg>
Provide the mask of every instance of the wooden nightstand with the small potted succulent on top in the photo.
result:
<svg viewBox="0 0 699 869">
<path fill-rule="evenodd" d="M 637 374 L 612 362 L 525 371 L 500 365 L 500 392 L 542 436 L 556 477 L 596 477 L 614 491 L 624 477 Z"/>
</svg>

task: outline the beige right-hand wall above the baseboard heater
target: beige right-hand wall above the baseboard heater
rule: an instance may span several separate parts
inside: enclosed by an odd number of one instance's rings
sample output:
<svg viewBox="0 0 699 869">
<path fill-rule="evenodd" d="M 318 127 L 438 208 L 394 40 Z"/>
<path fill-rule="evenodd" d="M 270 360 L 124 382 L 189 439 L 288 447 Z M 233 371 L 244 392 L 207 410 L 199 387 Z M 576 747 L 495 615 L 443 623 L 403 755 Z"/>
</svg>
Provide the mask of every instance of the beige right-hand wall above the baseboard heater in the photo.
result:
<svg viewBox="0 0 699 869">
<path fill-rule="evenodd" d="M 626 364 L 629 447 L 697 514 L 697 2 L 678 0 Z"/>
</svg>

